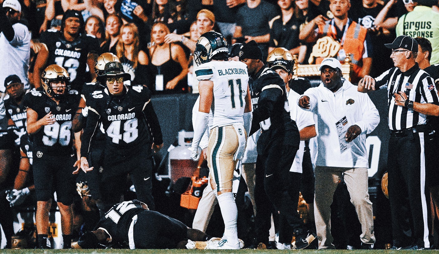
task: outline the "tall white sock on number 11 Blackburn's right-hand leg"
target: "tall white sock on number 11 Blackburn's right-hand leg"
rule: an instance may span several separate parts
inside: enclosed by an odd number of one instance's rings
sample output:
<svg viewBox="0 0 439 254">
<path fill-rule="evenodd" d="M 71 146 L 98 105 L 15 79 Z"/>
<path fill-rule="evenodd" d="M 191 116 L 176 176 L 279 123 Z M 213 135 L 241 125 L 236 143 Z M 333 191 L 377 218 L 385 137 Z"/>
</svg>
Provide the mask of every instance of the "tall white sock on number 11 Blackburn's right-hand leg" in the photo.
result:
<svg viewBox="0 0 439 254">
<path fill-rule="evenodd" d="M 226 192 L 217 196 L 221 214 L 224 220 L 224 236 L 223 238 L 231 244 L 238 242 L 238 230 L 236 221 L 238 217 L 238 209 L 236 208 L 235 199 L 232 192 Z"/>
</svg>

